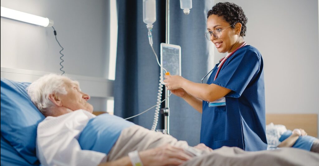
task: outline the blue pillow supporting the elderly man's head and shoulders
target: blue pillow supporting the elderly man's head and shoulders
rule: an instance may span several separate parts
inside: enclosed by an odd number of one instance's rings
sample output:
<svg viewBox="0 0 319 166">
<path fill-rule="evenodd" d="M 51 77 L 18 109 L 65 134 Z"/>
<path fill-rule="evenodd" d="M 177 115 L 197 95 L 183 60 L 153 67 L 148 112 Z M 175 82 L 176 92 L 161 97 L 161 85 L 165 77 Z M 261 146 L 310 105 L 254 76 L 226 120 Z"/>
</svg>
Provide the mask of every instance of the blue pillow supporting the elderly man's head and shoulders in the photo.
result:
<svg viewBox="0 0 319 166">
<path fill-rule="evenodd" d="M 45 117 L 30 100 L 26 91 L 29 85 L 1 78 L 1 136 L 19 157 L 30 164 L 39 164 L 35 151 L 36 132 Z"/>
</svg>

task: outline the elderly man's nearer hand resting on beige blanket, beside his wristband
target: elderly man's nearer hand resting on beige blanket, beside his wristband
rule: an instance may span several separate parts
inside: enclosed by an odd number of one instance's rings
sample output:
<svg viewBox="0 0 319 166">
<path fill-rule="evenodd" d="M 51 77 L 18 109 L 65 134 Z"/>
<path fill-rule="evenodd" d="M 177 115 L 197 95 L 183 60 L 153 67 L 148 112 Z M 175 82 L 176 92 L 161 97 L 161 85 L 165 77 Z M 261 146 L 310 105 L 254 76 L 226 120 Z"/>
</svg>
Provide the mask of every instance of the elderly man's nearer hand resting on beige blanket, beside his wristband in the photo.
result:
<svg viewBox="0 0 319 166">
<path fill-rule="evenodd" d="M 186 154 L 182 148 L 177 148 L 169 144 L 141 151 L 139 152 L 139 156 L 145 166 L 180 165 L 192 158 Z"/>
</svg>

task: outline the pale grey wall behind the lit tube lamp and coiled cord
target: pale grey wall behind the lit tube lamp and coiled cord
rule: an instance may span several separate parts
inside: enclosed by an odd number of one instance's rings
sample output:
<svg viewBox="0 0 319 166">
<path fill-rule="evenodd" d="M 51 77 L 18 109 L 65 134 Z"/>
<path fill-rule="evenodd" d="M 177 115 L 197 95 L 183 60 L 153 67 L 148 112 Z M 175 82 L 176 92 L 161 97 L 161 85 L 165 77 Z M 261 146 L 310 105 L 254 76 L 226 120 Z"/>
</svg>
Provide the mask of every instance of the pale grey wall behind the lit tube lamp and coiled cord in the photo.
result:
<svg viewBox="0 0 319 166">
<path fill-rule="evenodd" d="M 1 6 L 54 21 L 66 74 L 108 78 L 109 1 L 1 0 Z M 60 50 L 52 27 L 1 17 L 1 67 L 61 73 Z M 91 102 L 106 109 L 106 99 Z"/>
</svg>

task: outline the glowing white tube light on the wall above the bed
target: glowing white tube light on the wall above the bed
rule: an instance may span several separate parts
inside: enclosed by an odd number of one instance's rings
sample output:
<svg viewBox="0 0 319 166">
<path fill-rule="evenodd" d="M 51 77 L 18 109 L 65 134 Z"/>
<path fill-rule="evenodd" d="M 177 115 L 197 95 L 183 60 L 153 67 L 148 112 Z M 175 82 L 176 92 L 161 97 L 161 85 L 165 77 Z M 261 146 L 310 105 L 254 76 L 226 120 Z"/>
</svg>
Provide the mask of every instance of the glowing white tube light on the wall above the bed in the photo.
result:
<svg viewBox="0 0 319 166">
<path fill-rule="evenodd" d="M 30 24 L 49 27 L 53 25 L 53 20 L 46 17 L 40 17 L 33 14 L 25 13 L 18 10 L 8 9 L 1 6 L 1 17 L 10 18 Z"/>
</svg>

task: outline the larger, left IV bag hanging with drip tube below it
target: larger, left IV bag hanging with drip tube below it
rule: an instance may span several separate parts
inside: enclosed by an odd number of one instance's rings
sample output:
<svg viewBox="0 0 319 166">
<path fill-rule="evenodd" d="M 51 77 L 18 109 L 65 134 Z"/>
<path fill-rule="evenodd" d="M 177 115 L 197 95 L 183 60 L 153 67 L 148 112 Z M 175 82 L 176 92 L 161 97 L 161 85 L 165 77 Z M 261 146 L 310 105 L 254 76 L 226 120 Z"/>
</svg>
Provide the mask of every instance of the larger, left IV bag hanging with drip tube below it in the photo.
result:
<svg viewBox="0 0 319 166">
<path fill-rule="evenodd" d="M 143 22 L 147 29 L 153 28 L 153 23 L 156 21 L 156 1 L 143 0 Z"/>
</svg>

